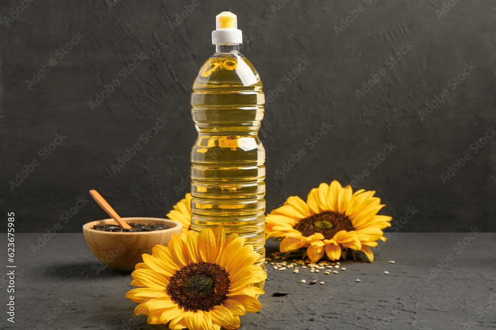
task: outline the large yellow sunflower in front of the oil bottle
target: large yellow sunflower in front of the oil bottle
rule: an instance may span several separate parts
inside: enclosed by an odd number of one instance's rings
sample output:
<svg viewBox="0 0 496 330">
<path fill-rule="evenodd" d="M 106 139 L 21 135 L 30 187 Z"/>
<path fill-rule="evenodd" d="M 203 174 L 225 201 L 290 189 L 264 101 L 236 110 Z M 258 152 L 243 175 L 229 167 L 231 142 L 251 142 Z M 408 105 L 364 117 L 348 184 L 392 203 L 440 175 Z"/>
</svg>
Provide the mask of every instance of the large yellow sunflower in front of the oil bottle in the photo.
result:
<svg viewBox="0 0 496 330">
<path fill-rule="evenodd" d="M 148 315 L 149 324 L 170 322 L 174 330 L 239 328 L 240 315 L 261 307 L 255 295 L 264 292 L 252 284 L 267 277 L 253 265 L 260 255 L 244 243 L 238 234 L 226 238 L 218 226 L 155 245 L 131 274 L 131 285 L 144 286 L 126 294 L 139 303 L 134 314 Z"/>
</svg>

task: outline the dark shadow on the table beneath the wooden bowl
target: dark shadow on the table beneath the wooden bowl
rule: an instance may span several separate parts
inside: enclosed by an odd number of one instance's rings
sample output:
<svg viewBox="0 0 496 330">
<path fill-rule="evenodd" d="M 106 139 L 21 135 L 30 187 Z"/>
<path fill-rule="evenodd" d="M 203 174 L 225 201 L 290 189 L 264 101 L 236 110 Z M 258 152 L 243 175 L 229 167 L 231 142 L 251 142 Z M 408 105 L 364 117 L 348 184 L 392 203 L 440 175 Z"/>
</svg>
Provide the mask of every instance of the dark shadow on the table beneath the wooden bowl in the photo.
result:
<svg viewBox="0 0 496 330">
<path fill-rule="evenodd" d="M 130 272 L 117 271 L 100 262 L 79 262 L 55 264 L 48 267 L 42 276 L 58 280 L 68 279 L 94 279 L 116 276 L 130 276 Z"/>
</svg>

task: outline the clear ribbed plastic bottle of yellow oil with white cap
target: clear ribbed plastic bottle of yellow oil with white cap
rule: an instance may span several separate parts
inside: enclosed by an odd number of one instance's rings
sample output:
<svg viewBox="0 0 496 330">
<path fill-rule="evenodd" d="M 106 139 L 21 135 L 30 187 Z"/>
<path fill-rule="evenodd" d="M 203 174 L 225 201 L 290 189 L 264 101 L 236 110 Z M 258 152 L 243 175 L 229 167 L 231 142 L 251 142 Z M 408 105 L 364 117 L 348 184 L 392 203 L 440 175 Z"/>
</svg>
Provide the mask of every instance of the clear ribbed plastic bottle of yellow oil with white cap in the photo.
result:
<svg viewBox="0 0 496 330">
<path fill-rule="evenodd" d="M 265 149 L 258 139 L 265 96 L 258 73 L 239 47 L 235 14 L 216 16 L 215 53 L 193 83 L 191 114 L 198 138 L 191 149 L 191 229 L 222 224 L 254 246 L 264 266 Z"/>
</svg>

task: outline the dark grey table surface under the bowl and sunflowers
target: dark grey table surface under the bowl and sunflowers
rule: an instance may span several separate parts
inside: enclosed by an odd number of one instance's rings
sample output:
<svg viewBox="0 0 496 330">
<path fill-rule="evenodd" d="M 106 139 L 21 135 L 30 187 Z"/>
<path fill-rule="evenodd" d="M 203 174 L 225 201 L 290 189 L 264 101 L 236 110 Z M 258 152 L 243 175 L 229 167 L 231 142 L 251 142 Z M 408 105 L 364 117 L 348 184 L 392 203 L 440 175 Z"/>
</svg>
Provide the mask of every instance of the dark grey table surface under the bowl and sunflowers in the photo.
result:
<svg viewBox="0 0 496 330">
<path fill-rule="evenodd" d="M 133 288 L 130 273 L 102 267 L 82 234 L 58 233 L 35 254 L 38 236 L 17 234 L 9 264 L 1 234 L 2 329 L 168 329 L 134 316 L 136 303 L 124 297 Z M 266 247 L 270 255 L 277 243 Z M 372 264 L 341 261 L 346 270 L 330 275 L 268 264 L 262 308 L 242 316 L 240 329 L 496 328 L 496 233 L 392 234 L 374 254 Z M 15 323 L 5 313 L 11 269 Z M 289 295 L 272 297 L 275 291 Z"/>
</svg>

